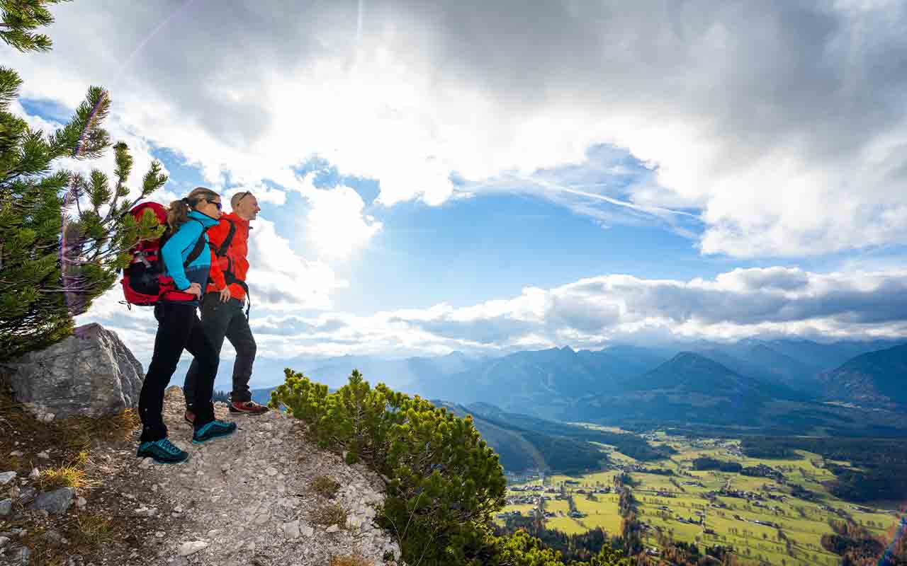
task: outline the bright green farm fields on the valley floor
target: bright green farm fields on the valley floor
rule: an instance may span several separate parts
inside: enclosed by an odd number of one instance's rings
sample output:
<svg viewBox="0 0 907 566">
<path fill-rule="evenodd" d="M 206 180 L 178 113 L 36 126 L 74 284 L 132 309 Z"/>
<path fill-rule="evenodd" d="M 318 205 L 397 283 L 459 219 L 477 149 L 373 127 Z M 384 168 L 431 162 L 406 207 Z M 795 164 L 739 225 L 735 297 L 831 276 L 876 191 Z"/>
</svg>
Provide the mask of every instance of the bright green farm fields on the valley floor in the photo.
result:
<svg viewBox="0 0 907 566">
<path fill-rule="evenodd" d="M 690 441 L 663 434 L 652 436 L 650 442 L 671 446 L 677 454 L 657 462 L 640 463 L 611 452 L 610 461 L 615 469 L 579 476 L 549 475 L 543 482 L 540 478 L 512 484 L 508 486 L 508 500 L 514 495 L 544 496 L 544 511 L 549 513 L 545 517 L 548 529 L 576 534 L 601 527 L 619 534 L 622 518 L 613 485 L 615 476 L 624 472 L 629 475 L 628 487 L 636 500 L 638 520 L 648 525 L 643 533 L 646 546 L 658 547 L 660 531 L 675 541 L 696 543 L 700 547 L 733 546 L 743 559 L 779 566 L 839 564 L 840 557 L 825 551 L 820 542 L 824 534 L 833 533 L 829 520 L 840 521 L 849 516 L 885 541 L 890 539 L 890 532 L 900 520 L 889 509 L 867 512 L 863 505 L 850 504 L 829 494 L 822 482 L 834 475 L 825 468 L 827 463 L 822 456 L 798 451 L 797 459 L 749 458 L 740 452 L 734 440 Z M 784 481 L 692 469 L 693 460 L 702 456 L 744 467 L 766 465 L 783 475 Z M 669 470 L 670 475 L 650 473 L 662 470 Z M 814 501 L 793 496 L 791 490 L 795 485 L 813 492 Z M 610 493 L 590 494 L 605 490 Z M 707 494 L 712 494 L 712 499 Z M 531 509 L 532 504 L 509 504 L 503 513 L 520 511 L 525 516 L 527 507 Z"/>
</svg>

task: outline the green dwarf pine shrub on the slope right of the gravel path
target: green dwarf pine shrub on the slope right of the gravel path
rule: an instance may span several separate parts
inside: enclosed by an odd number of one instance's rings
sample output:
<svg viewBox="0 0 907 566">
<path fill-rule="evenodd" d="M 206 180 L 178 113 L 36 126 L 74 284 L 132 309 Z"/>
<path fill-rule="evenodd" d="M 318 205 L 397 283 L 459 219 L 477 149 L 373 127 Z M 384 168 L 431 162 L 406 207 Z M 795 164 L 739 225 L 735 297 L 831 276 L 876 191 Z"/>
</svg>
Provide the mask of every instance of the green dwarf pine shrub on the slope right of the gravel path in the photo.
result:
<svg viewBox="0 0 907 566">
<path fill-rule="evenodd" d="M 356 369 L 334 393 L 302 373 L 284 373 L 268 405 L 306 422 L 319 447 L 346 453 L 347 464 L 362 461 L 382 475 L 385 502 L 375 520 L 395 536 L 406 563 L 564 566 L 559 552 L 543 549 L 525 532 L 516 539 L 493 536 L 506 481 L 472 417 L 456 417 L 383 383 L 373 389 Z M 619 562 L 595 566 L 611 563 Z"/>
</svg>

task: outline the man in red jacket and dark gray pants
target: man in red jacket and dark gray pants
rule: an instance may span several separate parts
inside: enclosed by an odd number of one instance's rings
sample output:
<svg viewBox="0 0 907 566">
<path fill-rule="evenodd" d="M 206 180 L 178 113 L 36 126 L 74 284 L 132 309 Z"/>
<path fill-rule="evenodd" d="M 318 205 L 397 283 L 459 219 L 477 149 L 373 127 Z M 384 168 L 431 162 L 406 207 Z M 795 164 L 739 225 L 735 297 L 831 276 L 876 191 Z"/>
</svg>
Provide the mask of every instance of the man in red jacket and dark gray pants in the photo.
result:
<svg viewBox="0 0 907 566">
<path fill-rule="evenodd" d="M 201 302 L 201 326 L 218 353 L 224 338 L 236 350 L 233 362 L 233 391 L 229 411 L 259 415 L 267 412 L 264 405 L 252 401 L 249 378 L 255 361 L 255 338 L 249 329 L 249 310 L 243 312 L 243 302 L 249 301 L 246 273 L 249 271 L 249 226 L 258 216 L 258 199 L 250 192 L 237 193 L 230 198 L 233 211 L 220 217 L 218 225 L 208 229 L 211 249 L 217 261 L 211 265 L 209 284 Z M 186 395 L 186 420 L 195 418 L 192 403 L 199 376 L 193 360 L 183 391 Z"/>
</svg>

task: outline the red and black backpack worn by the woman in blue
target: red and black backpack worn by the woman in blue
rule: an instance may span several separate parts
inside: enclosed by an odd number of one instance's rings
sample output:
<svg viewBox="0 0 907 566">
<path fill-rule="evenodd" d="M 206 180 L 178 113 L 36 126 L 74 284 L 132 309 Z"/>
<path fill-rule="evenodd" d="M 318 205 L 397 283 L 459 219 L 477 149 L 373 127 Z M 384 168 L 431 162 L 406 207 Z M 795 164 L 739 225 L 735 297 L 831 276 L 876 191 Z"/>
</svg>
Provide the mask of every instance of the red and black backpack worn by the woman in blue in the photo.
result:
<svg viewBox="0 0 907 566">
<path fill-rule="evenodd" d="M 160 203 L 142 203 L 133 206 L 129 214 L 135 217 L 138 222 L 142 215 L 147 215 L 151 211 L 158 223 L 167 224 L 167 209 Z M 196 221 L 198 222 L 198 221 Z M 132 253 L 132 262 L 122 272 L 122 293 L 126 298 L 126 304 L 139 306 L 153 306 L 161 301 L 164 294 L 177 301 L 190 301 L 195 295 L 190 293 L 181 293 L 173 288 L 173 280 L 170 276 L 164 274 L 164 265 L 161 258 L 161 247 L 171 236 L 170 226 L 164 230 L 160 238 L 152 240 L 140 240 L 138 244 L 133 245 L 130 249 Z M 196 241 L 186 261 L 182 266 L 185 268 L 191 264 L 201 252 L 205 249 L 206 240 L 204 232 Z"/>
</svg>

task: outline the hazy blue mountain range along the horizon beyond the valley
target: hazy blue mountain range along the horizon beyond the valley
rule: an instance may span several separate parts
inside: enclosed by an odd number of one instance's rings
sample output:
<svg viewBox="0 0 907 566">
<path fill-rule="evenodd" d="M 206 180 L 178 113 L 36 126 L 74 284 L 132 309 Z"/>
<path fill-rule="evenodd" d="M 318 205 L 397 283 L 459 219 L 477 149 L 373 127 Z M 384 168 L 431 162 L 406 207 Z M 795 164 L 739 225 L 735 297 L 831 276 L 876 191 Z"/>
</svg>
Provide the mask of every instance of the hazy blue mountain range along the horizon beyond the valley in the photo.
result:
<svg viewBox="0 0 907 566">
<path fill-rule="evenodd" d="M 507 413 L 551 420 L 887 436 L 907 427 L 901 423 L 907 410 L 902 342 L 695 342 L 564 347 L 497 358 L 453 352 L 402 360 L 297 359 L 280 365 L 332 388 L 346 383 L 356 368 L 372 383 L 383 381 L 411 395 L 463 405 L 487 402 Z M 256 362 L 256 374 L 268 371 L 272 383 L 282 382 L 282 367 L 268 369 L 269 362 L 262 361 Z M 268 391 L 259 390 L 257 398 L 267 398 Z"/>
</svg>

